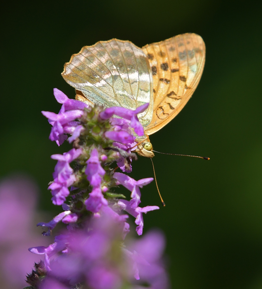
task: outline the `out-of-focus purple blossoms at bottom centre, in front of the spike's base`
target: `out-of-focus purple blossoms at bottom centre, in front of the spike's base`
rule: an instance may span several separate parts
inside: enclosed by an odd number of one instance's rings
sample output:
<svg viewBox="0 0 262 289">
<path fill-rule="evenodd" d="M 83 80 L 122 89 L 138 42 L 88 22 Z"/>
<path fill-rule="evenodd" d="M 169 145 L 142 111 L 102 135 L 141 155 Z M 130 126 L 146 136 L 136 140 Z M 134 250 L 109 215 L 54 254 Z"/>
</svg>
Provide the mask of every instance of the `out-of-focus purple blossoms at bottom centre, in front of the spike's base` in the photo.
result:
<svg viewBox="0 0 262 289">
<path fill-rule="evenodd" d="M 167 288 L 161 260 L 165 246 L 163 235 L 150 232 L 139 241 L 127 240 L 123 247 L 124 222 L 106 210 L 100 218 L 92 218 L 85 228 L 58 236 L 49 247 L 30 248 L 33 253 L 45 255 L 49 281 L 46 280 L 42 288 L 47 289 L 51 282 L 62 282 L 67 285 L 65 288 L 70 288 L 85 281 L 90 288 L 116 289 L 122 288 L 127 280 L 133 286 L 147 282 L 150 288 Z M 59 252 L 62 255 L 51 259 Z M 118 262 L 114 261 L 114 255 L 121 256 Z M 141 283 L 137 281 L 140 279 Z"/>
</svg>

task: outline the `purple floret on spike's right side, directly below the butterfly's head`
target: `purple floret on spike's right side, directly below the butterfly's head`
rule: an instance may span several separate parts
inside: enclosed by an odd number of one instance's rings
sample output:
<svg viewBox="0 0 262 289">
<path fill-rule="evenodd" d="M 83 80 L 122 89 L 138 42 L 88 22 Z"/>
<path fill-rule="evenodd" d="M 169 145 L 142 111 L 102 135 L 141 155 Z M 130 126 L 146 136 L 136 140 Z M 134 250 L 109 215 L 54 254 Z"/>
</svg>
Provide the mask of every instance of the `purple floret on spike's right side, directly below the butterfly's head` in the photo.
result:
<svg viewBox="0 0 262 289">
<path fill-rule="evenodd" d="M 131 192 L 130 206 L 133 209 L 137 208 L 138 205 L 141 203 L 141 192 L 139 188 L 143 188 L 143 186 L 151 183 L 151 181 L 154 180 L 153 178 L 146 178 L 136 181 L 128 175 L 122 173 L 114 173 L 114 178 L 117 179 L 122 186 L 124 186 Z"/>
</svg>

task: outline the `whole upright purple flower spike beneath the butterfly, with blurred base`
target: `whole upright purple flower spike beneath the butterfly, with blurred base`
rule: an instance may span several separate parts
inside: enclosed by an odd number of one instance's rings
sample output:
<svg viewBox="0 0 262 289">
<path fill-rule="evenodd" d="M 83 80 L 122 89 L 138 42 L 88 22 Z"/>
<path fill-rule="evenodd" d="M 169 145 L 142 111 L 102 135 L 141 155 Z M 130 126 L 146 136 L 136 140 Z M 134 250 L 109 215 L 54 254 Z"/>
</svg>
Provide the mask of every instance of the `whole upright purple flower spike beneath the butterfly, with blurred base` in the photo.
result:
<svg viewBox="0 0 262 289">
<path fill-rule="evenodd" d="M 153 178 L 135 180 L 115 172 L 118 167 L 123 172 L 132 170 L 131 162 L 137 158 L 132 152 L 137 146 L 134 132 L 144 135 L 137 114 L 146 110 L 148 103 L 136 110 L 91 107 L 68 99 L 57 89 L 54 95 L 62 104 L 60 112 L 42 112 L 52 125 L 50 139 L 58 145 L 64 140 L 73 142 L 73 149 L 51 156 L 57 164 L 48 188 L 53 204 L 62 205 L 64 212 L 37 226 L 47 227 L 44 236 L 55 231 L 59 222 L 67 227 L 49 246 L 29 248 L 43 258 L 27 276 L 29 288 L 145 288 L 145 283 L 152 289 L 167 288 L 161 233 L 149 233 L 151 237 L 141 242 L 128 235 L 132 229 L 128 214 L 131 223 L 135 218 L 140 236 L 143 213 L 159 209 L 140 207 L 140 189 Z M 73 161 L 75 166 L 70 165 Z M 116 186 L 127 188 L 130 200 L 125 200 L 128 195 L 115 193 Z"/>
</svg>

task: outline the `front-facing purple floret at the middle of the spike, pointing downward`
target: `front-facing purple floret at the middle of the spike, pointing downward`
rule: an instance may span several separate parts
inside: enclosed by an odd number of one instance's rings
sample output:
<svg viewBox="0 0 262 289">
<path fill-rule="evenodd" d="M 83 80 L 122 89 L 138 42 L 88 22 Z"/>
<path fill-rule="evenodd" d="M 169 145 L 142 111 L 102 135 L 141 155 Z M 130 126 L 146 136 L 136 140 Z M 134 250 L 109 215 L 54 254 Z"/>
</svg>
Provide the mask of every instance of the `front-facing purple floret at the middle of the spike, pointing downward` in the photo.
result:
<svg viewBox="0 0 262 289">
<path fill-rule="evenodd" d="M 85 173 L 91 186 L 98 186 L 101 184 L 101 176 L 105 174 L 105 170 L 101 167 L 98 158 L 98 151 L 93 149 L 90 153 L 90 158 L 87 160 Z"/>
</svg>

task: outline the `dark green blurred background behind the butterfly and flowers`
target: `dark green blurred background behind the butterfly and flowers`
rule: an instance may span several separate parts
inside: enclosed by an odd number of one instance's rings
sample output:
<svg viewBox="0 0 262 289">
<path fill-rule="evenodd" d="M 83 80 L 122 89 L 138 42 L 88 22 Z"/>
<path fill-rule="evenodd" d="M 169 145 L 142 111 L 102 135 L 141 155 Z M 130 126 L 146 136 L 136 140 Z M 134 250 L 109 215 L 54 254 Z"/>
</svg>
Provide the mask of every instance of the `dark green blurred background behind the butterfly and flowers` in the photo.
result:
<svg viewBox="0 0 262 289">
<path fill-rule="evenodd" d="M 251 5 L 252 3 L 252 5 Z M 38 182 L 40 209 L 51 205 L 53 153 L 40 111 L 58 112 L 53 87 L 74 97 L 60 73 L 71 54 L 99 40 L 137 46 L 195 32 L 206 64 L 193 98 L 150 140 L 165 208 L 144 217 L 145 231 L 167 236 L 172 288 L 262 288 L 261 5 L 252 1 L 38 1 L 1 9 L 0 173 L 24 171 Z M 145 158 L 135 179 L 152 177 Z M 126 192 L 126 191 L 125 191 Z M 155 184 L 142 204 L 161 205 Z"/>
</svg>

